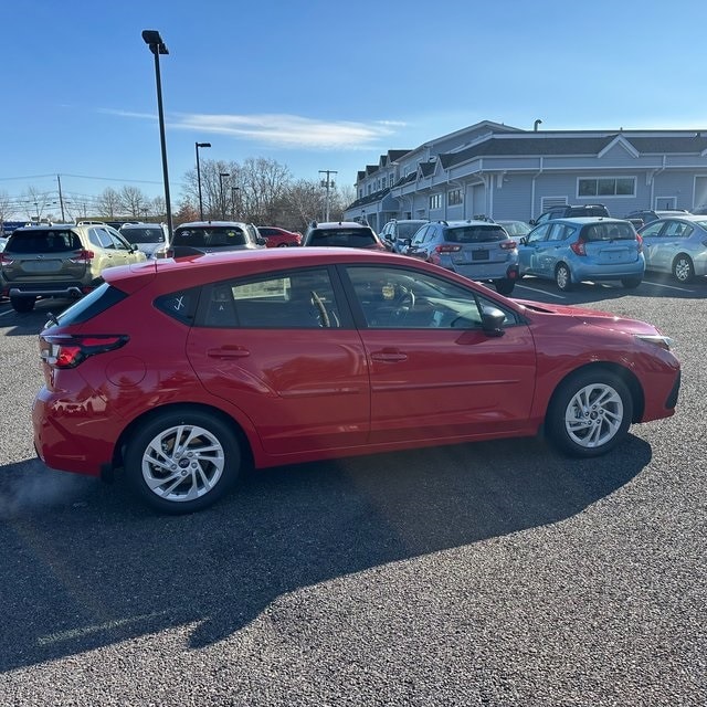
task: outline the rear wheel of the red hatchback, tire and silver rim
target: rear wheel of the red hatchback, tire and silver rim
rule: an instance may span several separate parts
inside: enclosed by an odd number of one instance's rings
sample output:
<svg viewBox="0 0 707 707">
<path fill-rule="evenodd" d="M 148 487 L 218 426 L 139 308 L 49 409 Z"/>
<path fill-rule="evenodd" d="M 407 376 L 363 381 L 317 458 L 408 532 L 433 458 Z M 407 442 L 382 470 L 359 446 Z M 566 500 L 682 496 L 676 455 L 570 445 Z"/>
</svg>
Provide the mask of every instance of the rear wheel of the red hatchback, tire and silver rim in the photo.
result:
<svg viewBox="0 0 707 707">
<path fill-rule="evenodd" d="M 188 446 L 179 449 L 179 440 Z M 231 490 L 241 460 L 236 436 L 220 418 L 202 410 L 172 409 L 138 429 L 127 445 L 125 473 L 148 506 L 186 514 L 207 508 Z"/>
</svg>

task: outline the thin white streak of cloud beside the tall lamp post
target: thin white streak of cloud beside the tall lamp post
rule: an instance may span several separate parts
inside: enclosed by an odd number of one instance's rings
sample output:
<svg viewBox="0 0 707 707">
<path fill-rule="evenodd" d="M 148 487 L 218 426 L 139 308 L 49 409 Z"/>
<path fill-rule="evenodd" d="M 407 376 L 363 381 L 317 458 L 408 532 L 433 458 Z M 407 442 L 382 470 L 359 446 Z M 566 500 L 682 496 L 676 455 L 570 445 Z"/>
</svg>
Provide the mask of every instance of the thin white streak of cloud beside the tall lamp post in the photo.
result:
<svg viewBox="0 0 707 707">
<path fill-rule="evenodd" d="M 155 115 L 104 108 L 101 113 L 127 118 L 155 119 Z M 175 114 L 168 119 L 171 129 L 194 130 L 200 135 L 231 135 L 278 147 L 319 149 L 371 149 L 395 134 L 404 123 L 379 120 L 316 120 L 287 114 L 209 115 Z"/>
</svg>

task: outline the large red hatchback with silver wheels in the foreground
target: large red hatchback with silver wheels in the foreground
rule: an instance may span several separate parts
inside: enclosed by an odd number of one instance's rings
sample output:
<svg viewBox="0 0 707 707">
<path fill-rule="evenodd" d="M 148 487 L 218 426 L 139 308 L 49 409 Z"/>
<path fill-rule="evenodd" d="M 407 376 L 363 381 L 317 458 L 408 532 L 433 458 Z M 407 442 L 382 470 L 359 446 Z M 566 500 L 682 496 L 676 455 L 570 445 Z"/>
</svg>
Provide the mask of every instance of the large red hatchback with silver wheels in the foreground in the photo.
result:
<svg viewBox="0 0 707 707">
<path fill-rule="evenodd" d="M 159 338 L 159 346 L 156 345 Z M 595 456 L 674 413 L 680 367 L 650 324 L 513 302 L 359 249 L 158 260 L 40 334 L 34 443 L 168 513 L 255 467 L 535 435 Z"/>
</svg>

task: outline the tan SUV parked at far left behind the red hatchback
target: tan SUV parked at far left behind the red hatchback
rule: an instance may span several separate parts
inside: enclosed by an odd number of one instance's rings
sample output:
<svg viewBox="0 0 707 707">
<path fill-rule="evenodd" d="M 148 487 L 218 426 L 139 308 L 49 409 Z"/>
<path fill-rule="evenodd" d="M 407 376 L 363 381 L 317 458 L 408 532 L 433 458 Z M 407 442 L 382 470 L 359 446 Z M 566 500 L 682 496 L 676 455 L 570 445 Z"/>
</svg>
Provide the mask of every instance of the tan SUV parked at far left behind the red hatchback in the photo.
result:
<svg viewBox="0 0 707 707">
<path fill-rule="evenodd" d="M 106 267 L 146 258 L 105 223 L 15 229 L 0 253 L 2 294 L 15 312 L 31 312 L 39 297 L 83 297 Z"/>
</svg>

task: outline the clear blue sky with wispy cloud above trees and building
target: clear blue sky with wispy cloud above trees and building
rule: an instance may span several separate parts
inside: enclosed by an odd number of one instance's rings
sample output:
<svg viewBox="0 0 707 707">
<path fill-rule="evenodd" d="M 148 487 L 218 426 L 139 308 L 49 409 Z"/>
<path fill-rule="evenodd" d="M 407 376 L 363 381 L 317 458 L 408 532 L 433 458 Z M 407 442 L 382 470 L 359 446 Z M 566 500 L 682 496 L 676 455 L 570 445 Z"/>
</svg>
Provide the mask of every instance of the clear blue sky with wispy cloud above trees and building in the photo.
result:
<svg viewBox="0 0 707 707">
<path fill-rule="evenodd" d="M 0 193 L 163 194 L 202 160 L 266 157 L 352 184 L 389 149 L 478 120 L 707 129 L 707 2 L 22 0 L 2 23 Z"/>
</svg>

